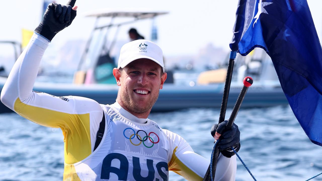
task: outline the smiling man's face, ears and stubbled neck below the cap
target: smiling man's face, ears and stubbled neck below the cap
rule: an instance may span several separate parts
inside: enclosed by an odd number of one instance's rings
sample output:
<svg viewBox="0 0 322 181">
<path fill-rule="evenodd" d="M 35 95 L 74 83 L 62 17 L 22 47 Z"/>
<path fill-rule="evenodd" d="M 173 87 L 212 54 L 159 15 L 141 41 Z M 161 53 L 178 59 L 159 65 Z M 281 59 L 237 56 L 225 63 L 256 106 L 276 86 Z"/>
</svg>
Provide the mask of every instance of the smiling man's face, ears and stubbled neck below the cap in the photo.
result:
<svg viewBox="0 0 322 181">
<path fill-rule="evenodd" d="M 136 114 L 149 113 L 166 80 L 161 66 L 149 59 L 138 59 L 122 71 L 115 68 L 114 72 L 120 86 L 118 98 L 121 104 Z"/>
</svg>

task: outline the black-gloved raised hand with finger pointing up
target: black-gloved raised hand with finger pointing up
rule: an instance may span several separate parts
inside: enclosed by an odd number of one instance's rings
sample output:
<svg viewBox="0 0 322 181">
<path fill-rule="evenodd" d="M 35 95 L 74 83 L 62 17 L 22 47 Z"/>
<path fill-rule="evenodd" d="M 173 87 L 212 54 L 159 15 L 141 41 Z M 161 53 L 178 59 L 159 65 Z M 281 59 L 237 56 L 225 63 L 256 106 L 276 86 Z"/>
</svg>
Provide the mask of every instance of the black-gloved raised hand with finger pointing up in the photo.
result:
<svg viewBox="0 0 322 181">
<path fill-rule="evenodd" d="M 52 38 L 58 32 L 71 25 L 71 22 L 76 17 L 77 6 L 73 7 L 75 2 L 76 0 L 69 0 L 67 5 L 49 4 L 45 14 L 43 14 L 43 20 L 35 29 L 35 32 L 52 41 Z"/>
</svg>

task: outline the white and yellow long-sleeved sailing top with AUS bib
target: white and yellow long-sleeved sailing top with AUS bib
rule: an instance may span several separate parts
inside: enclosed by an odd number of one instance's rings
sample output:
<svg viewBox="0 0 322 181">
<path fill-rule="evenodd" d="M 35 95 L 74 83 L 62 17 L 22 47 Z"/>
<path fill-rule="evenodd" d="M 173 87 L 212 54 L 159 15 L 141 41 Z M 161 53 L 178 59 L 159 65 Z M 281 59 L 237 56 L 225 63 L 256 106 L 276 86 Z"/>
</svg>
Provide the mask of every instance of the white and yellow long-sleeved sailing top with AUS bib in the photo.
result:
<svg viewBox="0 0 322 181">
<path fill-rule="evenodd" d="M 194 153 L 179 135 L 139 119 L 117 102 L 56 97 L 33 91 L 39 64 L 49 41 L 34 34 L 1 92 L 1 101 L 37 124 L 61 128 L 64 135 L 64 180 L 169 180 L 168 172 L 202 180 L 209 160 Z M 93 151 L 103 114 L 104 136 Z M 220 155 L 215 180 L 235 180 L 236 157 Z"/>
</svg>

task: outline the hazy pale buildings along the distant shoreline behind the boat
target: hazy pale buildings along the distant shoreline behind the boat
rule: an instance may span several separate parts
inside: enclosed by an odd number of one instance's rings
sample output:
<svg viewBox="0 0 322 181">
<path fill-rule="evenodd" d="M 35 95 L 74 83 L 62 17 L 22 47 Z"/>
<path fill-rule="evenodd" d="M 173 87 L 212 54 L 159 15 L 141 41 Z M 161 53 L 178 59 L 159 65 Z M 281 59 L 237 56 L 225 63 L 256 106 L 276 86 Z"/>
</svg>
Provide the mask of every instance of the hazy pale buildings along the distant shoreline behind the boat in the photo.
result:
<svg viewBox="0 0 322 181">
<path fill-rule="evenodd" d="M 120 48 L 124 43 L 126 43 L 125 40 L 118 41 L 111 50 L 111 56 L 116 61 L 118 60 Z M 75 39 L 66 41 L 61 47 L 48 47 L 50 50 L 44 55 L 41 64 L 44 73 L 60 72 L 73 75 L 81 60 L 85 44 L 86 40 Z M 208 43 L 204 47 L 200 47 L 198 53 L 193 55 L 168 55 L 164 52 L 164 59 L 167 70 L 184 70 L 187 69 L 187 64 L 191 64 L 191 69 L 199 72 L 217 69 L 225 64 L 228 54 L 229 52 L 223 50 L 223 48 L 215 47 L 212 43 Z M 1 57 L 1 59 L 4 59 L 4 57 Z M 7 57 L 6 59 L 12 58 Z"/>
</svg>

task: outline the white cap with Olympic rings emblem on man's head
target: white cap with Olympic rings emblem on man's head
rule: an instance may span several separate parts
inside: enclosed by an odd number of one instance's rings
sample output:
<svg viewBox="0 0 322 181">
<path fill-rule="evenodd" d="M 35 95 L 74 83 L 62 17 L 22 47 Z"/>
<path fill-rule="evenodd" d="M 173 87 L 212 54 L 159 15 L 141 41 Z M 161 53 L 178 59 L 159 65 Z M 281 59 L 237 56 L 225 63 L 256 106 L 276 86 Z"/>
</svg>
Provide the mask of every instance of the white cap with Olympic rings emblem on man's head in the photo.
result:
<svg viewBox="0 0 322 181">
<path fill-rule="evenodd" d="M 123 45 L 118 58 L 118 69 L 141 58 L 153 60 L 162 67 L 164 72 L 162 50 L 158 45 L 148 40 L 135 40 Z"/>
</svg>

